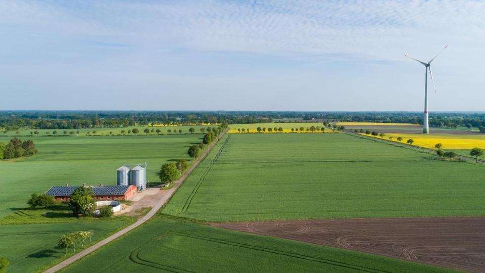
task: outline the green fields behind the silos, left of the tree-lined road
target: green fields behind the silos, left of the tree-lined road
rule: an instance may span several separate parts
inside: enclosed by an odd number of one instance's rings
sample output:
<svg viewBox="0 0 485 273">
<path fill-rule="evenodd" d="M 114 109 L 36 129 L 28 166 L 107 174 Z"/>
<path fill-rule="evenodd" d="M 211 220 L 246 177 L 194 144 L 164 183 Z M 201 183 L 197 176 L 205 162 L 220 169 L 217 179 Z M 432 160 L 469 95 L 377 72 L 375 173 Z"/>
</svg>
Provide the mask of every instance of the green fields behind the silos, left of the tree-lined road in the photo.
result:
<svg viewBox="0 0 485 273">
<path fill-rule="evenodd" d="M 116 169 L 147 162 L 147 179 L 159 181 L 162 164 L 189 160 L 188 146 L 201 143 L 202 134 L 79 136 L 33 138 L 39 150 L 31 158 L 0 161 L 0 218 L 25 207 L 31 193 L 51 186 L 116 185 Z M 26 139 L 26 138 L 21 138 Z M 0 137 L 7 143 L 10 137 Z M 1 221 L 1 219 L 0 219 Z"/>
</svg>

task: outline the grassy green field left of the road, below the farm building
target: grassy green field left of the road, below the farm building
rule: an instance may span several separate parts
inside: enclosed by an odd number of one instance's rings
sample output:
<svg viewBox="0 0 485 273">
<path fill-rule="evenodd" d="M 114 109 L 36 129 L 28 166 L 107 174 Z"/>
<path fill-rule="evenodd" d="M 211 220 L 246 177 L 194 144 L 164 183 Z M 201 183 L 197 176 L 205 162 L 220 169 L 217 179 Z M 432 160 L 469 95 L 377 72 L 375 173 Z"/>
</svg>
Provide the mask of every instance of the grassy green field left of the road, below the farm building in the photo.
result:
<svg viewBox="0 0 485 273">
<path fill-rule="evenodd" d="M 56 248 L 62 235 L 74 231 L 93 230 L 92 240 L 95 242 L 127 223 L 127 220 L 111 220 L 2 225 L 0 226 L 0 257 L 6 257 L 11 261 L 8 267 L 9 273 L 36 271 L 64 259 L 64 249 Z M 85 246 L 88 244 L 89 241 L 86 241 Z M 71 254 L 72 249 L 69 252 Z"/>
</svg>

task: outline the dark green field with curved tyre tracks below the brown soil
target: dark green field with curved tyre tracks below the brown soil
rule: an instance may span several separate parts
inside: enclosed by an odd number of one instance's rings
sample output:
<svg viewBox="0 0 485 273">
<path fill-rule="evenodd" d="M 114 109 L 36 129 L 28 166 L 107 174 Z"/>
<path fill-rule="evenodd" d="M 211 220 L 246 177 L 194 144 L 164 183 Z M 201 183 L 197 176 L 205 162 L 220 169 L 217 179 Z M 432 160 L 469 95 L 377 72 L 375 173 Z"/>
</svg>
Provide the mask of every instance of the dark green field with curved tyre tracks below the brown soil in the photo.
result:
<svg viewBox="0 0 485 273">
<path fill-rule="evenodd" d="M 370 254 L 156 216 L 63 272 L 446 272 Z"/>
</svg>

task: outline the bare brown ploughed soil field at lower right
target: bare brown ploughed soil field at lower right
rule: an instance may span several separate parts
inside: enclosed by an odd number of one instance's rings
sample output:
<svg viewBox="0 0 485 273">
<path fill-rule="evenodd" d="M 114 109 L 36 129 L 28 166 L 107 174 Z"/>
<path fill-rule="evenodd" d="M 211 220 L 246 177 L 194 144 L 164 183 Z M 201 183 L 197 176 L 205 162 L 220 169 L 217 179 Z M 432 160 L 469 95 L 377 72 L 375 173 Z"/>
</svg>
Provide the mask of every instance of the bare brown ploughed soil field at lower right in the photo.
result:
<svg viewBox="0 0 485 273">
<path fill-rule="evenodd" d="M 485 217 L 292 220 L 211 225 L 485 272 Z"/>
</svg>

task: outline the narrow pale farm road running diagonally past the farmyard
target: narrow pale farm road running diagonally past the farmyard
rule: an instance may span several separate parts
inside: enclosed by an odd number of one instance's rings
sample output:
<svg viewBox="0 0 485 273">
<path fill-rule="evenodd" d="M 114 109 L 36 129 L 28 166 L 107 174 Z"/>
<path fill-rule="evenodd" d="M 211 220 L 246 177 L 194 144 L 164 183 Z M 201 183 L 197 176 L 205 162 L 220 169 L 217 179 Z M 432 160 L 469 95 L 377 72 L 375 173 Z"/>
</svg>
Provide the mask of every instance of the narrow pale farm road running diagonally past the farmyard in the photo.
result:
<svg viewBox="0 0 485 273">
<path fill-rule="evenodd" d="M 227 132 L 227 130 L 225 130 L 217 140 L 221 139 L 223 135 L 225 135 L 225 133 Z M 190 165 L 190 167 L 188 168 L 188 170 L 182 175 L 182 177 L 180 177 L 177 181 L 174 181 L 174 186 L 167 190 L 167 194 L 164 195 L 158 202 L 157 204 L 155 204 L 155 206 L 144 216 L 142 216 L 141 218 L 138 218 L 138 220 L 136 220 L 134 223 L 128 225 L 126 228 L 122 229 L 121 231 L 118 231 L 117 233 L 109 236 L 108 238 L 105 238 L 103 240 L 101 240 L 100 242 L 98 243 L 95 243 L 94 245 L 84 249 L 83 251 L 79 252 L 79 253 L 76 253 L 74 254 L 73 256 L 61 261 L 60 263 L 54 265 L 53 267 L 43 271 L 43 273 L 54 273 L 54 272 L 57 272 L 61 269 L 63 269 L 64 267 L 70 265 L 71 263 L 79 260 L 80 258 L 94 252 L 95 250 L 107 245 L 108 243 L 120 238 L 121 236 L 127 234 L 128 232 L 134 230 L 135 228 L 137 228 L 139 225 L 143 224 L 144 222 L 148 221 L 150 218 L 152 218 L 152 216 L 156 215 L 156 213 L 158 212 L 158 210 L 160 208 L 162 208 L 165 203 L 167 203 L 170 198 L 172 197 L 172 195 L 176 192 L 176 190 L 182 185 L 183 181 L 188 177 L 188 175 L 202 162 L 202 160 L 204 160 L 204 158 L 206 157 L 206 155 L 212 150 L 212 148 L 217 144 L 217 142 L 213 142 L 209 145 L 209 147 L 207 148 L 207 150 L 196 160 L 192 163 L 192 165 Z"/>
</svg>

